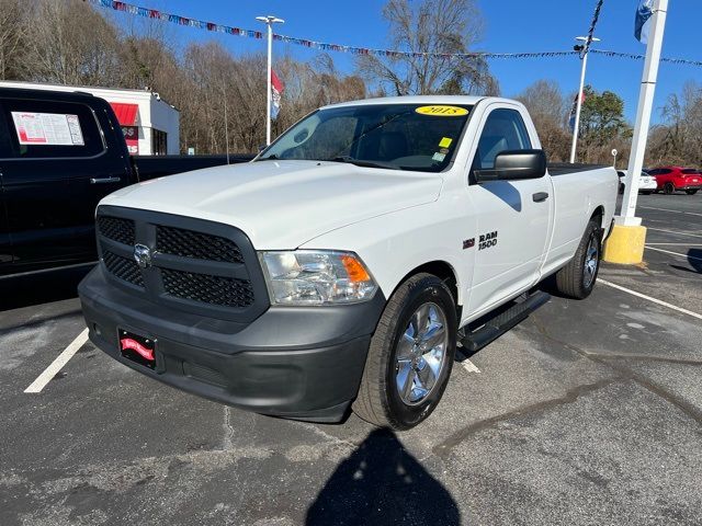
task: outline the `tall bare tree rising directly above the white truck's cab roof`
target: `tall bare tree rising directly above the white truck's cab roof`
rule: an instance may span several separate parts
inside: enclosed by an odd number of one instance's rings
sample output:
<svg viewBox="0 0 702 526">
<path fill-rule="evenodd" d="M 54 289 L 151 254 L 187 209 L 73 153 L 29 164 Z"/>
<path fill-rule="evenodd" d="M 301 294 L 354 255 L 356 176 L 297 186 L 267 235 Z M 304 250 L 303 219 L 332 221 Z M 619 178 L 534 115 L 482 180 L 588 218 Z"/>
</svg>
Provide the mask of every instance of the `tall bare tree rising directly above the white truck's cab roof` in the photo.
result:
<svg viewBox="0 0 702 526">
<path fill-rule="evenodd" d="M 457 59 L 482 34 L 475 0 L 389 0 L 383 8 L 389 46 L 406 54 L 360 57 L 369 80 L 397 95 L 499 91 L 480 57 Z"/>
</svg>

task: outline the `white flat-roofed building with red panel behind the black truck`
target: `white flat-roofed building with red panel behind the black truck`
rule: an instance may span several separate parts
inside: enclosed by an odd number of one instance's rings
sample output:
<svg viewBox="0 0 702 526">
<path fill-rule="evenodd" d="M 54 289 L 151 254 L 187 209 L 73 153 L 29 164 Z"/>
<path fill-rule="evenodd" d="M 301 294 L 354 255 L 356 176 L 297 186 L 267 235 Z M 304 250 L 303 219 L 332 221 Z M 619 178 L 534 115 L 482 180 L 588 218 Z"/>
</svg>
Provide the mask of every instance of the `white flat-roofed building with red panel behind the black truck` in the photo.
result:
<svg viewBox="0 0 702 526">
<path fill-rule="evenodd" d="M 129 153 L 165 156 L 180 153 L 180 113 L 149 90 L 122 90 L 38 82 L 0 81 L 1 88 L 82 91 L 104 99 L 114 110 Z"/>
</svg>

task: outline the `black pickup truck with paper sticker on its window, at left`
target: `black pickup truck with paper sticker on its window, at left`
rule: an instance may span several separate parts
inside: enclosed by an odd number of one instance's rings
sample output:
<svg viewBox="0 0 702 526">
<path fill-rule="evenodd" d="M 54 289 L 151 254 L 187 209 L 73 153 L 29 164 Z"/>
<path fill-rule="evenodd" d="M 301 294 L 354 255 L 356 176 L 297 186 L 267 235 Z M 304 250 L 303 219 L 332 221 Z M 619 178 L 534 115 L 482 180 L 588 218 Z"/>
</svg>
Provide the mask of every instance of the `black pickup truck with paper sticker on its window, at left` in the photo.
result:
<svg viewBox="0 0 702 526">
<path fill-rule="evenodd" d="M 106 101 L 0 88 L 0 278 L 95 262 L 94 213 L 105 195 L 226 162 L 226 156 L 131 157 Z"/>
</svg>

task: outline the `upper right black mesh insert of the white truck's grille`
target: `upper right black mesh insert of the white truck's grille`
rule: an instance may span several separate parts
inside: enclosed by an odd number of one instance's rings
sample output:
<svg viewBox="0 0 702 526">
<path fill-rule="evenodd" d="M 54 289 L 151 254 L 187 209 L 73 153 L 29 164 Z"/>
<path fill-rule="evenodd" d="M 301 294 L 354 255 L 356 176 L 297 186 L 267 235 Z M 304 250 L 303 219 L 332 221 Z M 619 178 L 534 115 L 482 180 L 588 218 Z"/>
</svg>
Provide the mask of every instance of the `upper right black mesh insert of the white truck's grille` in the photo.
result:
<svg viewBox="0 0 702 526">
<path fill-rule="evenodd" d="M 156 227 L 156 250 L 165 254 L 197 260 L 244 262 L 241 251 L 234 241 L 183 228 Z"/>
</svg>

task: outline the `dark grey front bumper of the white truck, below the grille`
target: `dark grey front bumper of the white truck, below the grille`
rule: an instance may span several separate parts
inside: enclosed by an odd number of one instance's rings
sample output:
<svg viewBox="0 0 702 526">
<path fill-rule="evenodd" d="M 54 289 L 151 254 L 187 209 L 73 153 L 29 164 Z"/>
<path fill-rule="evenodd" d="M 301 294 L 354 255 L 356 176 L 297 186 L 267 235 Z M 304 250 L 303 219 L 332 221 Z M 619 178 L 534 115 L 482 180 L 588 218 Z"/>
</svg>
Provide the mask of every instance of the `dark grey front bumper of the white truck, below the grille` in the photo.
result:
<svg viewBox="0 0 702 526">
<path fill-rule="evenodd" d="M 228 405 L 338 422 L 355 398 L 385 306 L 270 308 L 249 324 L 200 317 L 137 298 L 95 267 L 78 287 L 90 340 L 151 378 Z M 157 368 L 122 357 L 117 329 L 157 341 Z"/>
</svg>

